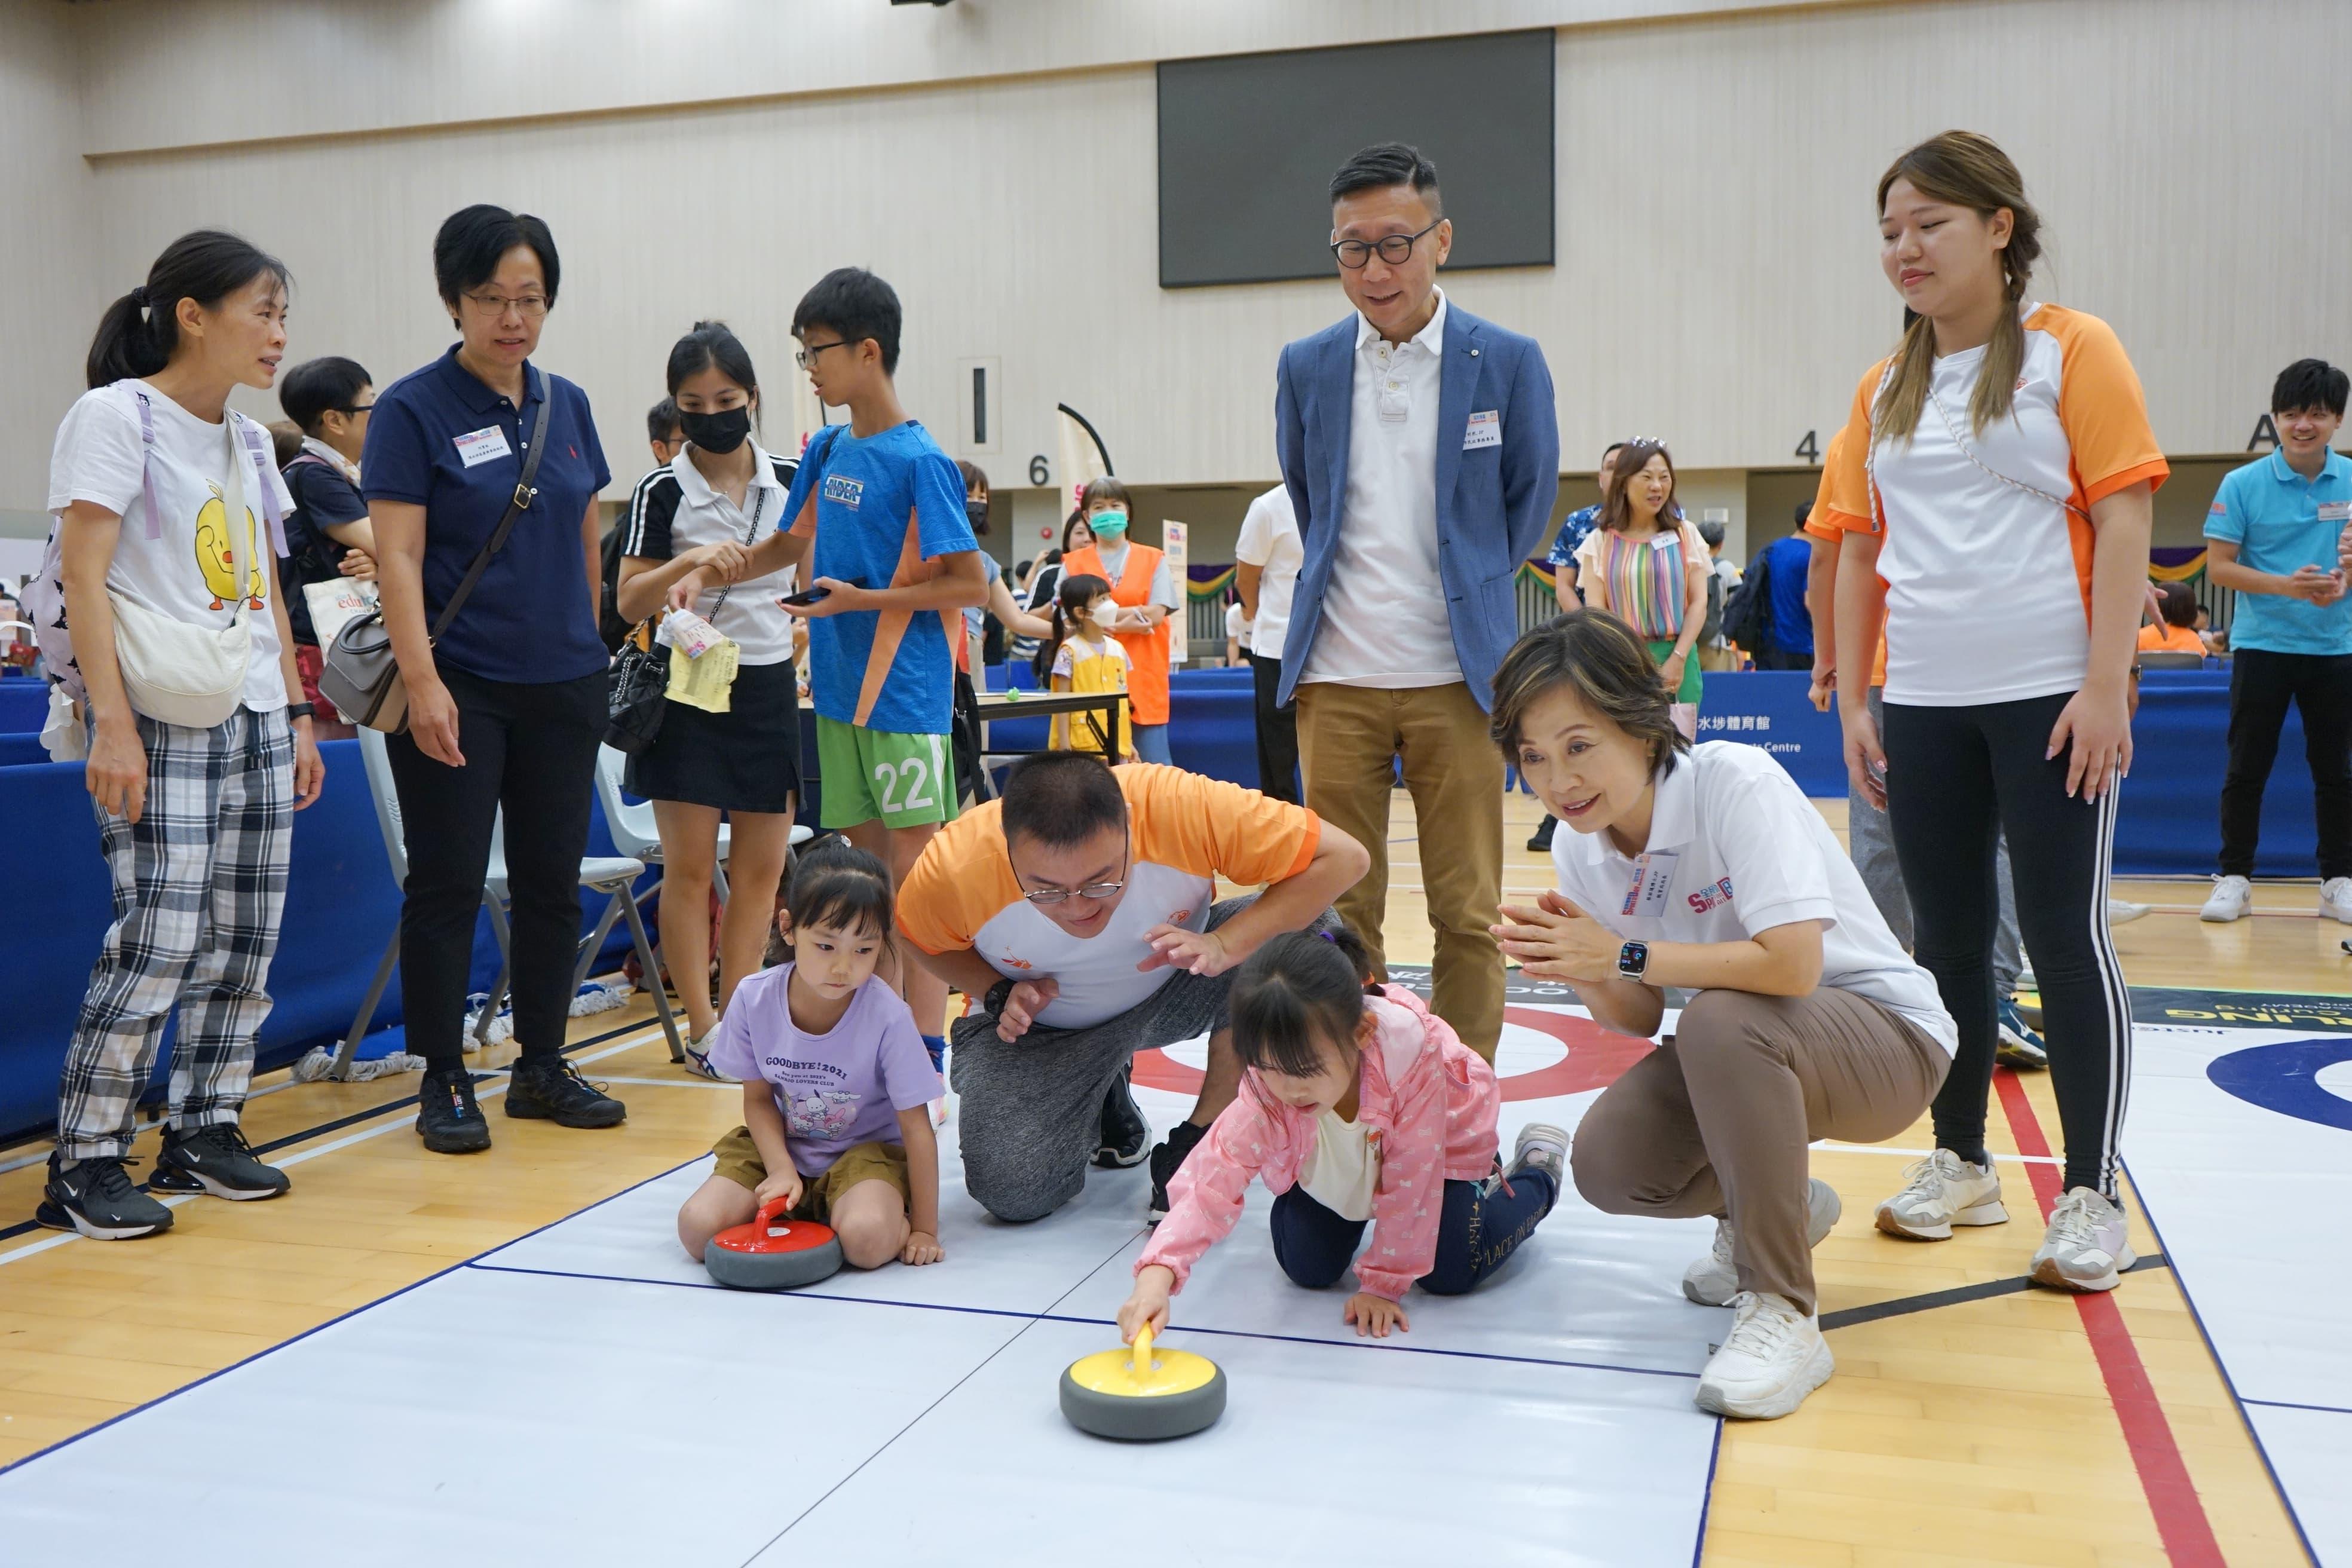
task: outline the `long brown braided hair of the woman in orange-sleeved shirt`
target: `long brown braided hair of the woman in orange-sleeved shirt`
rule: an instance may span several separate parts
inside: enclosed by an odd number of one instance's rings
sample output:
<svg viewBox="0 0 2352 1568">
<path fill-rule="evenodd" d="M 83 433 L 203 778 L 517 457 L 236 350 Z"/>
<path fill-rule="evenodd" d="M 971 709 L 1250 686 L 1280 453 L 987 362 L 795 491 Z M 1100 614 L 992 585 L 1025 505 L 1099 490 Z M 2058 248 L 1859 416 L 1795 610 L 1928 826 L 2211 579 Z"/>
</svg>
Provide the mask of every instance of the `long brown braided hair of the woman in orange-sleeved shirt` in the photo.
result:
<svg viewBox="0 0 2352 1568">
<path fill-rule="evenodd" d="M 1912 190 L 1931 202 L 1966 207 L 1980 219 L 1992 219 L 2009 209 L 2009 247 L 2002 252 L 2002 301 L 2009 306 L 1992 324 L 1992 341 L 1985 343 L 1985 364 L 1969 395 L 1969 425 L 1985 433 L 1997 418 L 2009 418 L 2018 395 L 2018 371 L 2025 369 L 2025 322 L 2018 306 L 2025 287 L 2042 261 L 2042 214 L 2025 200 L 2025 176 L 2009 162 L 1990 136 L 1976 132 L 1943 132 L 1929 136 L 1879 176 L 1879 214 L 1886 212 L 1886 188 L 1907 179 Z M 1886 390 L 1870 411 L 1875 440 L 1886 435 L 1910 444 L 1926 409 L 1926 393 L 1936 378 L 1936 324 L 1915 310 L 1903 310 L 1903 343 L 1886 369 Z"/>
</svg>

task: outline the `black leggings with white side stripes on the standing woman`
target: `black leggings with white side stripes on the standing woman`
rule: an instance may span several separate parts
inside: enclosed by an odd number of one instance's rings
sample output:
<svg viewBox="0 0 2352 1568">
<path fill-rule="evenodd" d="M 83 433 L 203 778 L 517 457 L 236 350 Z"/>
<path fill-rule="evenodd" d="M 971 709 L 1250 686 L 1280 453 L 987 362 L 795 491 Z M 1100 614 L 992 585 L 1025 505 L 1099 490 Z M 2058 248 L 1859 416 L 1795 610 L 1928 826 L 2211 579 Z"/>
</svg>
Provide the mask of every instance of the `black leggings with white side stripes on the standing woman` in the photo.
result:
<svg viewBox="0 0 2352 1568">
<path fill-rule="evenodd" d="M 2114 802 L 2067 797 L 2067 755 L 2044 757 L 2072 693 L 1978 708 L 1886 703 L 1886 818 L 1910 889 L 1915 954 L 1959 1025 L 1936 1095 L 1938 1147 L 1985 1140 L 1992 1088 L 1994 842 L 2009 835 L 2018 926 L 2042 990 L 2065 1185 L 2114 1197 L 2131 1093 L 2131 994 L 2107 940 Z"/>
</svg>

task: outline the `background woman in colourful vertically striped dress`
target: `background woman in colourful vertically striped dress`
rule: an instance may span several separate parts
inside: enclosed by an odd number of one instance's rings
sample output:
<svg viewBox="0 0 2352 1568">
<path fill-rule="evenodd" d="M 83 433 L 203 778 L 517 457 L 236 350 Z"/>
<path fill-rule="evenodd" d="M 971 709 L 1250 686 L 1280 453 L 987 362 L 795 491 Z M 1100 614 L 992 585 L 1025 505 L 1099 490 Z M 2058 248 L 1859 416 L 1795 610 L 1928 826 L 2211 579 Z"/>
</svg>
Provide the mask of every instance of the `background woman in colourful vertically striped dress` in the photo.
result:
<svg viewBox="0 0 2352 1568">
<path fill-rule="evenodd" d="M 1616 454 L 1602 520 L 1576 548 L 1576 588 L 1588 609 L 1630 625 L 1675 693 L 1675 729 L 1698 738 L 1698 632 L 1715 569 L 1698 529 L 1675 505 L 1675 458 L 1665 442 L 1625 442 Z"/>
</svg>

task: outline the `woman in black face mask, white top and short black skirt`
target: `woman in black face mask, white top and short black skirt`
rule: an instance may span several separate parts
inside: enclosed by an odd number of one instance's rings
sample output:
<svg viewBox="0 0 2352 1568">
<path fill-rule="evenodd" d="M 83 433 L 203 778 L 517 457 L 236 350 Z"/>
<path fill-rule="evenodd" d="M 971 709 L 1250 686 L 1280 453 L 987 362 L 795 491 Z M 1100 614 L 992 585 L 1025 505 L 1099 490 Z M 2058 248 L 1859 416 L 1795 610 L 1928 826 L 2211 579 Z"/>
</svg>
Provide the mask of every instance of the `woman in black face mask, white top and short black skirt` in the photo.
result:
<svg viewBox="0 0 2352 1568">
<path fill-rule="evenodd" d="M 703 569 L 717 583 L 694 614 L 731 639 L 736 675 L 727 710 L 687 701 L 663 705 L 654 743 L 628 759 L 628 790 L 654 802 L 661 830 L 661 957 L 687 1006 L 687 1060 L 701 1072 L 727 997 L 760 969 L 776 882 L 793 839 L 800 792 L 800 684 L 793 675 L 793 616 L 776 604 L 793 592 L 793 569 L 729 581 L 746 550 L 783 527 L 795 458 L 776 458 L 750 437 L 760 378 L 722 322 L 696 322 L 670 348 L 670 397 L 687 444 L 640 484 L 621 522 L 621 618 L 659 611 L 670 585 Z M 656 628 L 670 642 L 668 628 Z M 675 649 L 675 644 L 673 644 Z M 703 658 L 710 658 L 706 654 Z M 670 654 L 684 663 L 684 649 Z M 675 691 L 675 682 L 673 682 Z M 727 900 L 720 919 L 720 985 L 710 997 L 710 886 L 720 813 L 729 823 Z"/>
</svg>

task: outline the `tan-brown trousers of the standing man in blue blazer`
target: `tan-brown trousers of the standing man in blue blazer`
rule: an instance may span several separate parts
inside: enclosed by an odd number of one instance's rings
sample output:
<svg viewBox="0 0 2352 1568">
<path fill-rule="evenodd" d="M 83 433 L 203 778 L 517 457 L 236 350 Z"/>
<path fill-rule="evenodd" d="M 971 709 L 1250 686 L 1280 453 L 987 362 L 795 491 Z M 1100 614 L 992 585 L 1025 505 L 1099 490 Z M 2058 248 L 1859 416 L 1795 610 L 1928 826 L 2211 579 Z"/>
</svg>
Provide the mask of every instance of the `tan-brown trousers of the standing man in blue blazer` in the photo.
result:
<svg viewBox="0 0 2352 1568">
<path fill-rule="evenodd" d="M 1503 903 L 1503 755 L 1470 686 L 1298 686 L 1298 762 L 1308 809 L 1371 851 L 1338 912 L 1388 973 L 1388 802 L 1395 759 L 1414 795 L 1421 886 L 1437 938 L 1430 1011 L 1494 1060 L 1503 1039 L 1503 952 L 1489 926 Z"/>
</svg>

